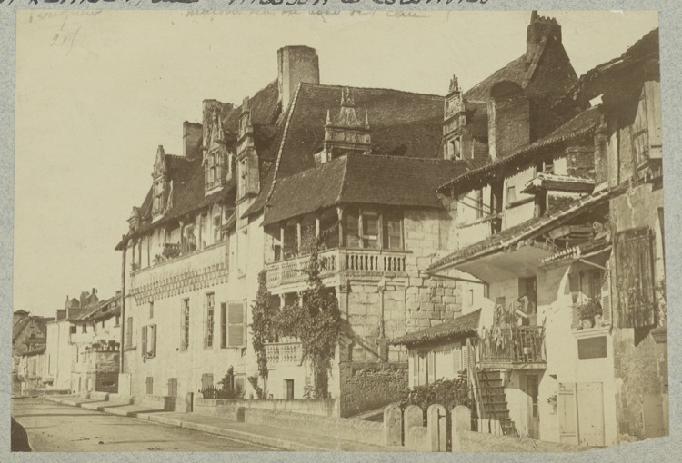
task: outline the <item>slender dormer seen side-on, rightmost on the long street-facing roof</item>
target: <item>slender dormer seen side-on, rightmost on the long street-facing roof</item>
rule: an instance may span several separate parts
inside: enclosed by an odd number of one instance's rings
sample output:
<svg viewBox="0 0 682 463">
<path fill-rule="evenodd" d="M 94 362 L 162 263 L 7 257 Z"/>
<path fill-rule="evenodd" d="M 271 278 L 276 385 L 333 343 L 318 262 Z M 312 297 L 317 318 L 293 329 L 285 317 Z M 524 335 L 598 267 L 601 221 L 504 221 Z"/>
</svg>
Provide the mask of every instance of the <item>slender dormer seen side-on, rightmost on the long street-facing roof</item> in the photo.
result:
<svg viewBox="0 0 682 463">
<path fill-rule="evenodd" d="M 242 103 L 239 115 L 239 134 L 236 149 L 237 202 L 256 196 L 260 189 L 258 154 L 254 147 L 254 127 L 251 125 L 251 108 L 248 97 Z"/>
</svg>

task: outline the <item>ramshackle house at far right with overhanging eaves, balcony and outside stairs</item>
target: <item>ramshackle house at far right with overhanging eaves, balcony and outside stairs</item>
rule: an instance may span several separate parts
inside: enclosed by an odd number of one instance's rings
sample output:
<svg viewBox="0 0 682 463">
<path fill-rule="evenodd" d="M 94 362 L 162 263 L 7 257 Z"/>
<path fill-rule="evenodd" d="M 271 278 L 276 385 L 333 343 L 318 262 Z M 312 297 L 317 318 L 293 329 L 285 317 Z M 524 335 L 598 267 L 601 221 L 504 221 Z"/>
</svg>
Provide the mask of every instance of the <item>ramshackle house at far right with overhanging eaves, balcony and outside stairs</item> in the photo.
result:
<svg viewBox="0 0 682 463">
<path fill-rule="evenodd" d="M 587 109 L 567 123 L 439 188 L 453 209 L 477 198 L 482 213 L 457 222 L 458 249 L 428 273 L 481 281 L 486 297 L 469 297 L 486 321 L 476 335 L 397 339 L 415 384 L 466 366 L 479 413 L 521 436 L 603 446 L 667 434 L 657 37 L 571 86 L 556 110 Z M 465 336 L 474 355 L 458 353 Z"/>
</svg>

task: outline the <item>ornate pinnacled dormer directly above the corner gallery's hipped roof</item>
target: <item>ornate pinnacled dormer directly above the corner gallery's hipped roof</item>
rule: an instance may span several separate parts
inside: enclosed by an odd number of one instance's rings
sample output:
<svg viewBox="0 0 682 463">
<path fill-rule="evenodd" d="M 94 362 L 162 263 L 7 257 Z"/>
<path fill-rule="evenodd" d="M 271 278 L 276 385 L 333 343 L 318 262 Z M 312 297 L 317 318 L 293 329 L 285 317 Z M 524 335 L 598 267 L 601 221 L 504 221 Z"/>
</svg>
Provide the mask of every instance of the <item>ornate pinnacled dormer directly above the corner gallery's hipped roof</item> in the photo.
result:
<svg viewBox="0 0 682 463">
<path fill-rule="evenodd" d="M 369 130 L 369 115 L 365 111 L 364 122 L 356 113 L 353 92 L 345 87 L 341 91 L 341 107 L 332 116 L 327 110 L 325 142 L 316 163 L 326 163 L 347 153 L 369 154 L 372 151 L 372 135 Z"/>
</svg>

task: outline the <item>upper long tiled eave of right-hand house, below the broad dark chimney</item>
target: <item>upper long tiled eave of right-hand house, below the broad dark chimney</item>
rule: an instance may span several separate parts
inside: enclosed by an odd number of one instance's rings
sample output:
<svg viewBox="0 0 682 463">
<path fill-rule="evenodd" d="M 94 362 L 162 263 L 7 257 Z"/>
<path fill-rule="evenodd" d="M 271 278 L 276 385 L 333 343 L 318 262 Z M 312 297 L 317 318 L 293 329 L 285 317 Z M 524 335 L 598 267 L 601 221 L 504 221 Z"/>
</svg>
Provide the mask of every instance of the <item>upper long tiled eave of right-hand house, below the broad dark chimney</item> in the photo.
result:
<svg viewBox="0 0 682 463">
<path fill-rule="evenodd" d="M 527 162 L 537 153 L 554 147 L 570 140 L 575 140 L 582 136 L 593 133 L 599 123 L 601 123 L 601 108 L 599 106 L 589 108 L 587 111 L 577 114 L 576 117 L 563 124 L 547 137 L 537 140 L 506 157 L 499 158 L 493 163 L 486 163 L 478 169 L 471 170 L 458 178 L 453 178 L 438 187 L 438 190 L 446 188 L 465 188 L 468 182 L 486 182 L 487 176 L 496 175 L 497 172 L 504 172 L 512 163 Z"/>
</svg>

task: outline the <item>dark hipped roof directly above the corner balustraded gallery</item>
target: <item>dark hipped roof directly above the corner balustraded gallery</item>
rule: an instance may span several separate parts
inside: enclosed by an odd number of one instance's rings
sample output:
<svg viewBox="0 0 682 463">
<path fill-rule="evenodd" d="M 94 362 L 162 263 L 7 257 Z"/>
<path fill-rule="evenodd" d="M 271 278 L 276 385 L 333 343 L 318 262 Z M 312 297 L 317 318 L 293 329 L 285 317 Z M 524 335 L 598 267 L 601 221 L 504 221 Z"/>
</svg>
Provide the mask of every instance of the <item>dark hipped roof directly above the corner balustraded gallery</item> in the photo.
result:
<svg viewBox="0 0 682 463">
<path fill-rule="evenodd" d="M 436 186 L 466 172 L 464 161 L 350 153 L 280 179 L 263 224 L 342 203 L 440 208 Z"/>
</svg>

